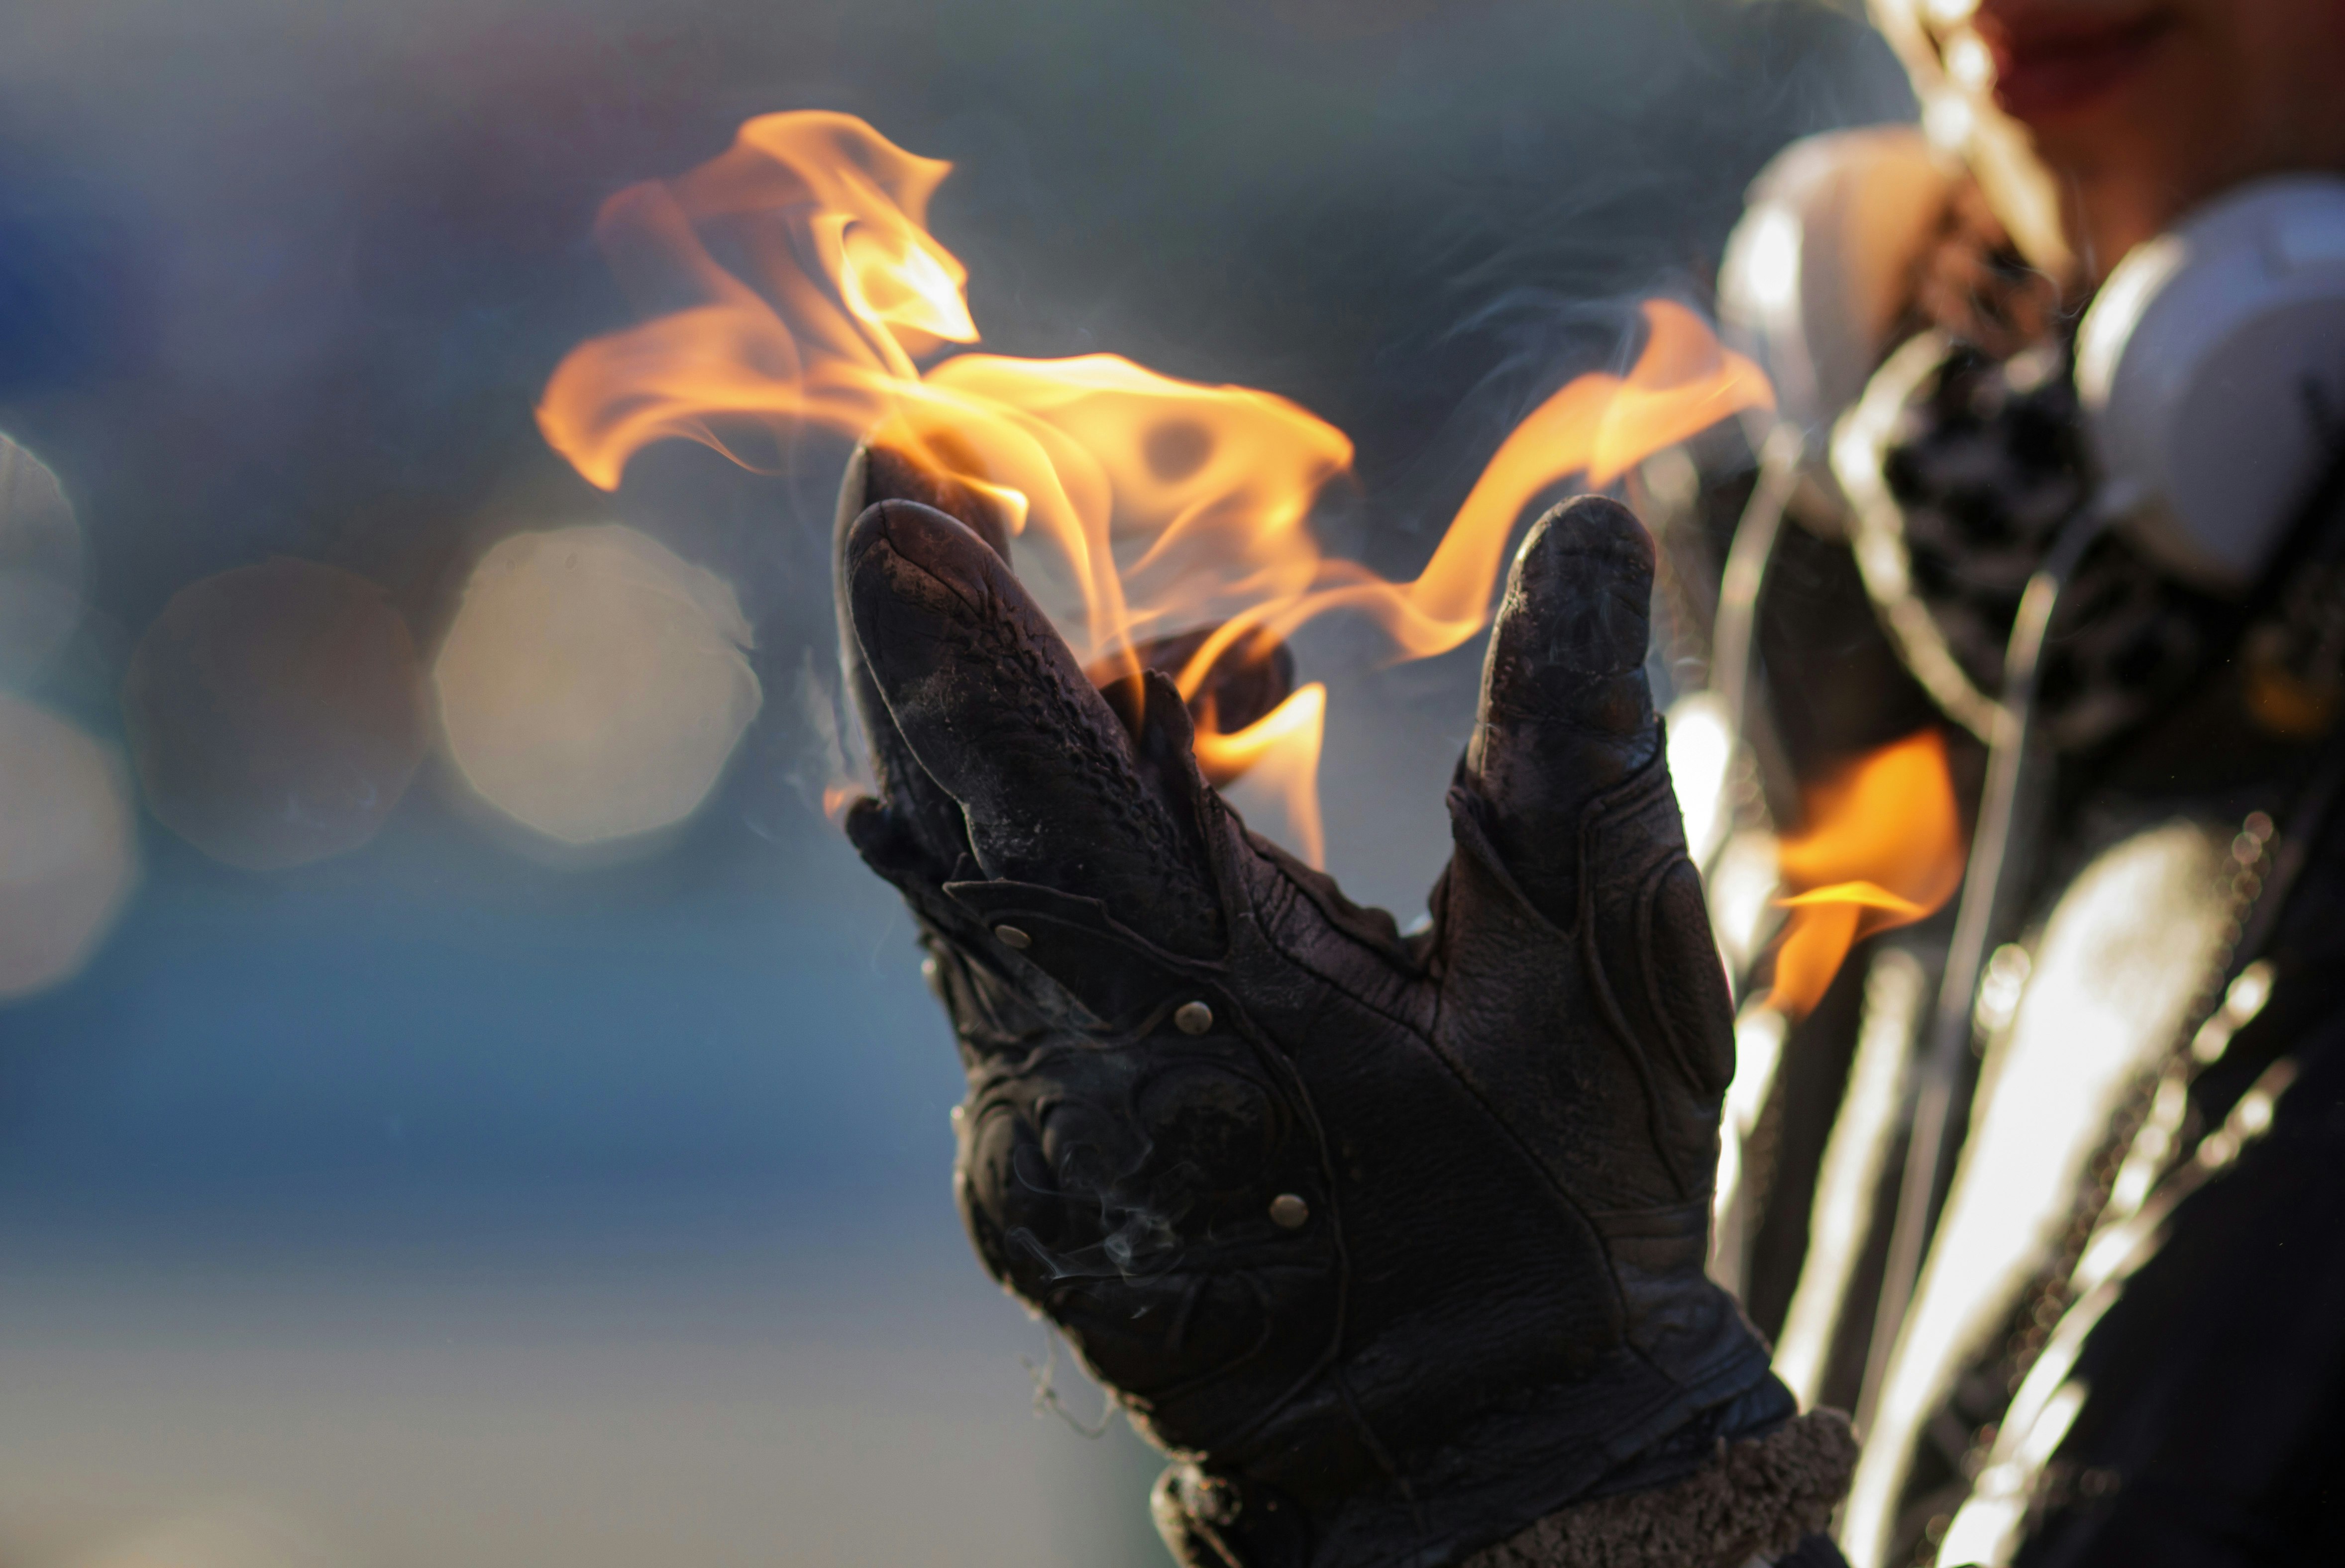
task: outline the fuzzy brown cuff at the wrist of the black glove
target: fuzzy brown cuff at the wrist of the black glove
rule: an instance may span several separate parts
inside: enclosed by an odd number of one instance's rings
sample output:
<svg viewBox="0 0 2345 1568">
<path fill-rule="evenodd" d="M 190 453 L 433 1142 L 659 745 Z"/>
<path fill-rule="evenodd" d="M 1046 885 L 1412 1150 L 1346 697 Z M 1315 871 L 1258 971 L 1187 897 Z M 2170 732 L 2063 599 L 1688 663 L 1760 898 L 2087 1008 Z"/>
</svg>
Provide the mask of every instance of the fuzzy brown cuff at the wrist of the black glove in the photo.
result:
<svg viewBox="0 0 2345 1568">
<path fill-rule="evenodd" d="M 1576 1502 L 1456 1568 L 1742 1568 L 1775 1559 L 1831 1519 L 1857 1467 L 1838 1411 L 1808 1411 L 1651 1491 Z"/>
</svg>

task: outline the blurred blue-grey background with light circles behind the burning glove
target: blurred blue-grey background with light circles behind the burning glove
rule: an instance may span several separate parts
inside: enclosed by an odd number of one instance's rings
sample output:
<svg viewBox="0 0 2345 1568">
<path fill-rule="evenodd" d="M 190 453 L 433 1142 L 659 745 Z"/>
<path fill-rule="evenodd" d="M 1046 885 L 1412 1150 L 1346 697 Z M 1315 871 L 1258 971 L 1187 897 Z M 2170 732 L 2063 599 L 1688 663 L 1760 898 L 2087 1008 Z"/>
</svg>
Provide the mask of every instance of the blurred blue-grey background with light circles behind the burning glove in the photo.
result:
<svg viewBox="0 0 2345 1568">
<path fill-rule="evenodd" d="M 1344 427 L 1407 574 L 1911 105 L 1803 0 L 0 7 L 0 1568 L 1168 1561 L 818 809 L 844 452 L 532 424 L 631 321 L 596 206 L 779 108 L 957 164 L 987 349 Z M 1407 921 L 1480 649 L 1372 654 L 1299 663 Z"/>
</svg>

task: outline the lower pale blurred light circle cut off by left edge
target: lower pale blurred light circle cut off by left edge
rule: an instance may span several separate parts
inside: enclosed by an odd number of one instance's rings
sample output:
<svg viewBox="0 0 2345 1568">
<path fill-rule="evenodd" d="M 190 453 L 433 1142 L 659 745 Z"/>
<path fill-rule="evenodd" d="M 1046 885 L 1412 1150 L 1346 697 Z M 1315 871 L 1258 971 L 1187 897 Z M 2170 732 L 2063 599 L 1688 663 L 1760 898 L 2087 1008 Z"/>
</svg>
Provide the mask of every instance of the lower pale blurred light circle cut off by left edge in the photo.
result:
<svg viewBox="0 0 2345 1568">
<path fill-rule="evenodd" d="M 138 879 L 115 755 L 0 694 L 0 998 L 80 973 Z"/>
</svg>

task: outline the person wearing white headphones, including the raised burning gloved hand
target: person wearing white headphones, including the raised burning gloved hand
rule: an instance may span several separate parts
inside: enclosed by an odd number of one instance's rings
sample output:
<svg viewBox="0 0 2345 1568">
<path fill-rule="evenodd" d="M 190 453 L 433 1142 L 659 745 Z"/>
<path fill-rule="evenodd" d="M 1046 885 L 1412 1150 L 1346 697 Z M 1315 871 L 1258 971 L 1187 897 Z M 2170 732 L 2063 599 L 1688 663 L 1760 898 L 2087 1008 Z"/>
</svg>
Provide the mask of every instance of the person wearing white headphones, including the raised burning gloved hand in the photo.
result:
<svg viewBox="0 0 2345 1568">
<path fill-rule="evenodd" d="M 2345 173 L 2345 7 L 1878 21 L 1923 127 L 1789 150 L 1721 272 L 1775 424 L 1651 464 L 1651 537 L 1531 530 L 1421 933 L 1248 834 L 1161 675 L 1095 689 L 983 497 L 849 473 L 847 827 L 954 1020 L 961 1214 L 1189 1568 L 2345 1561 L 2345 199 L 2265 183 Z M 2223 255 L 2265 293 L 2171 293 Z M 1974 823 L 1766 1073 L 1653 539 L 1745 841 L 1916 734 Z"/>
</svg>

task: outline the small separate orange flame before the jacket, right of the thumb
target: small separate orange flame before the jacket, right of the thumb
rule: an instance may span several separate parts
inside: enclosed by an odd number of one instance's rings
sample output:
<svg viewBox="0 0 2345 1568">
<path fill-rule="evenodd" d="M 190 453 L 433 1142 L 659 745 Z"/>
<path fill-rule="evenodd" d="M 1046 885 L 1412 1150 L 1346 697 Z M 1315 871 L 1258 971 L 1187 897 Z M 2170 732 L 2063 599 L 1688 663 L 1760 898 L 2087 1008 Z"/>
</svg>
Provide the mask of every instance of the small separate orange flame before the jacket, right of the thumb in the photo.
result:
<svg viewBox="0 0 2345 1568">
<path fill-rule="evenodd" d="M 1946 738 L 1923 729 L 1857 757 L 1808 790 L 1808 827 L 1775 863 L 1792 923 L 1775 949 L 1768 1005 L 1799 1017 L 1824 998 L 1841 959 L 1876 930 L 1935 914 L 1963 884 L 1963 830 Z"/>
</svg>

